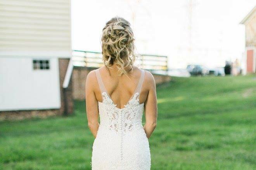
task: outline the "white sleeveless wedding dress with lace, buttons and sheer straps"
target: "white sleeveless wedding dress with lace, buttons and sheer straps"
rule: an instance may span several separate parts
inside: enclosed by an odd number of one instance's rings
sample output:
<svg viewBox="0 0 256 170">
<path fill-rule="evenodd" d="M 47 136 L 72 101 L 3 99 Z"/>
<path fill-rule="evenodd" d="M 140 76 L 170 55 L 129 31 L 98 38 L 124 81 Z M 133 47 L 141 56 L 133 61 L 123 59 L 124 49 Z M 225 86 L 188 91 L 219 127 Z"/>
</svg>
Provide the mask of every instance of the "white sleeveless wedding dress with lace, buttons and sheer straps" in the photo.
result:
<svg viewBox="0 0 256 170">
<path fill-rule="evenodd" d="M 139 104 L 144 70 L 131 99 L 116 107 L 95 70 L 102 93 L 100 126 L 92 147 L 92 170 L 150 170 L 149 141 L 142 126 L 144 103 Z"/>
</svg>

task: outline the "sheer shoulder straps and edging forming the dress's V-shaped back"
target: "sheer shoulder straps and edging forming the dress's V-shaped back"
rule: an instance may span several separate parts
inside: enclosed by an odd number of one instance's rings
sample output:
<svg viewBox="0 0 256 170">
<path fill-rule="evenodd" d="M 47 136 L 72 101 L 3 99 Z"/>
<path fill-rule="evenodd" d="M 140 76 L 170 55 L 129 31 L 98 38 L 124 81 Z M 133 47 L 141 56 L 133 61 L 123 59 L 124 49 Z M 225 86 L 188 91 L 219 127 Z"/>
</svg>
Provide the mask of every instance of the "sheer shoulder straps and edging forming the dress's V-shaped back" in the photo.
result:
<svg viewBox="0 0 256 170">
<path fill-rule="evenodd" d="M 138 81 L 137 87 L 135 88 L 133 94 L 131 95 L 131 97 L 130 97 L 130 99 L 128 100 L 128 102 L 126 103 L 126 105 L 129 104 L 129 102 L 131 101 L 131 99 L 133 99 L 133 97 L 134 97 L 134 95 L 135 95 L 136 93 L 139 93 L 139 94 L 138 94 L 138 99 L 140 99 L 140 91 L 141 91 L 141 88 L 142 88 L 142 83 L 143 83 L 143 81 L 144 81 L 145 72 L 144 72 L 144 70 L 142 70 L 142 69 L 140 69 L 140 68 L 139 68 L 139 70 L 140 70 L 140 72 L 141 72 L 141 73 L 140 73 L 140 79 L 139 79 L 139 81 Z M 102 93 L 103 93 L 103 92 L 106 92 L 106 93 L 107 93 L 107 96 L 109 97 L 109 99 L 113 102 L 113 104 L 115 104 L 114 101 L 112 100 L 111 96 L 110 96 L 109 93 L 107 92 L 107 89 L 106 89 L 106 87 L 105 87 L 105 85 L 104 85 L 104 83 L 103 83 L 103 81 L 102 81 L 99 68 L 95 70 L 95 73 L 96 73 L 96 77 L 97 77 L 97 80 L 98 80 L 98 83 L 99 83 L 101 96 L 102 96 Z M 103 102 L 103 97 L 102 97 L 102 102 Z M 124 107 L 125 107 L 125 105 L 124 105 Z M 117 107 L 117 108 L 118 108 L 118 107 Z M 123 109 L 123 108 L 118 108 L 118 109 Z"/>
</svg>

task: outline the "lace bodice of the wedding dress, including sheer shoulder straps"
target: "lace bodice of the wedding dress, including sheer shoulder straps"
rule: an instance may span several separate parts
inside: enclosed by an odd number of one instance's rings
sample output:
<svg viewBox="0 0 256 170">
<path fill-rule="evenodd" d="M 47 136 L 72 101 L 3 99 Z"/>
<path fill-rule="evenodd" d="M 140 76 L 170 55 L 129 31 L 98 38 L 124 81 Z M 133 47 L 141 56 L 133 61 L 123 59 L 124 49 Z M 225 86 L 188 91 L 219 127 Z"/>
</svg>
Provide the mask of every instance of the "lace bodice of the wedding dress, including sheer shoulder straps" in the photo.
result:
<svg viewBox="0 0 256 170">
<path fill-rule="evenodd" d="M 96 70 L 100 91 L 102 92 L 102 102 L 99 102 L 100 124 L 104 128 L 114 133 L 130 132 L 133 129 L 142 128 L 142 114 L 144 103 L 139 103 L 140 90 L 144 80 L 144 70 L 141 73 L 135 92 L 123 109 L 119 109 L 107 93 L 107 90 L 100 77 L 99 70 Z"/>
</svg>

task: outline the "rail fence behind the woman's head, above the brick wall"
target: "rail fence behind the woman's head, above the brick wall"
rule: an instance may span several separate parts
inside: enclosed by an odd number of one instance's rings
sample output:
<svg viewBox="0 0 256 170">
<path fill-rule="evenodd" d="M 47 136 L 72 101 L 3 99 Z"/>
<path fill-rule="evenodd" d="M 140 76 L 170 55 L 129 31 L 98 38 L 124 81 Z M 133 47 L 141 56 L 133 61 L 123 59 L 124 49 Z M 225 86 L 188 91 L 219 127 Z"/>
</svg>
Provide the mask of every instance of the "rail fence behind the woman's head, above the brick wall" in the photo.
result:
<svg viewBox="0 0 256 170">
<path fill-rule="evenodd" d="M 102 54 L 93 51 L 73 51 L 73 65 L 99 68 L 103 66 Z M 135 61 L 135 65 L 140 68 L 150 71 L 168 71 L 168 58 L 167 56 L 141 54 Z"/>
</svg>

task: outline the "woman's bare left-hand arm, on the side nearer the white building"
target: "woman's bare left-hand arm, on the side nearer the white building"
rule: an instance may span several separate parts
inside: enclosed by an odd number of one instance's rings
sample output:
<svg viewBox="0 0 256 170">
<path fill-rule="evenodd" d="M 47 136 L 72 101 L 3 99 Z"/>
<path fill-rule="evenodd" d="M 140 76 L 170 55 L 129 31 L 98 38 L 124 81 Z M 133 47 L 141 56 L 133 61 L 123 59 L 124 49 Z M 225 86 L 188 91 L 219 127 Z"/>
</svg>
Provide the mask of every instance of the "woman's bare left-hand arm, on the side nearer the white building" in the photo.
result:
<svg viewBox="0 0 256 170">
<path fill-rule="evenodd" d="M 90 128 L 90 131 L 92 132 L 94 138 L 96 138 L 97 131 L 99 129 L 98 101 L 94 93 L 95 84 L 97 84 L 95 71 L 91 71 L 87 75 L 85 83 L 85 102 L 88 127 Z"/>
</svg>

